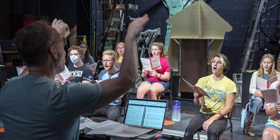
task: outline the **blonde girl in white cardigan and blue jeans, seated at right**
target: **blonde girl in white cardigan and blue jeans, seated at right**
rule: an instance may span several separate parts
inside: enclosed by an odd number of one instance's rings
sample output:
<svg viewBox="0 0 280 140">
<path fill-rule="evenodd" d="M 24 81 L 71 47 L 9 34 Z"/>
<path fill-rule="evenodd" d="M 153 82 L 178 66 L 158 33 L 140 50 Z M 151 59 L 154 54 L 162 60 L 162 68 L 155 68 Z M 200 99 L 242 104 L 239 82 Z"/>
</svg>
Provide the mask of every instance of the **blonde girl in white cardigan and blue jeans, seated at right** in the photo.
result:
<svg viewBox="0 0 280 140">
<path fill-rule="evenodd" d="M 254 122 L 256 114 L 259 112 L 260 108 L 264 105 L 265 102 L 262 98 L 260 89 L 257 88 L 256 78 L 260 77 L 268 80 L 269 78 L 278 75 L 279 79 L 279 73 L 274 68 L 275 64 L 273 55 L 265 54 L 262 56 L 262 59 L 260 61 L 260 69 L 258 71 L 255 71 L 252 75 L 249 88 L 249 93 L 252 94 L 248 114 L 249 117 L 248 120 L 244 122 L 244 127 L 246 129 L 245 133 L 248 136 L 255 136 L 252 122 Z"/>
</svg>

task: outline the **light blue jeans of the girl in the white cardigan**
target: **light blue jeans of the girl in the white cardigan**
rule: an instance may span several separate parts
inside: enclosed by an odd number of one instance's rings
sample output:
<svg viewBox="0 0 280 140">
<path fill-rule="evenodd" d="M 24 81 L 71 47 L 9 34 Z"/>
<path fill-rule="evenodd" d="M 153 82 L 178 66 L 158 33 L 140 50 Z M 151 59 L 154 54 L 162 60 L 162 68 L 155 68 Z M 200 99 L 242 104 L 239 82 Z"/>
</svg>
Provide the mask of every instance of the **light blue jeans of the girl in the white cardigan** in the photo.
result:
<svg viewBox="0 0 280 140">
<path fill-rule="evenodd" d="M 258 96 L 251 96 L 251 102 L 249 102 L 249 114 L 248 120 L 254 122 L 256 114 L 260 111 L 265 100 Z"/>
</svg>

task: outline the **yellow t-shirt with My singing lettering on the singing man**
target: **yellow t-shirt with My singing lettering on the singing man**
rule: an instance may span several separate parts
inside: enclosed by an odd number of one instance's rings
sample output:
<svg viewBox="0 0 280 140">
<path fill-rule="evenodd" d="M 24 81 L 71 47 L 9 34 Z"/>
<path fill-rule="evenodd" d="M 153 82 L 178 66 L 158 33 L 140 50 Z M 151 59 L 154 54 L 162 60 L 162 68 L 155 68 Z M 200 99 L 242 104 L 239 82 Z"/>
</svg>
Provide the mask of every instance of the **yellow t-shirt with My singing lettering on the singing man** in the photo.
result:
<svg viewBox="0 0 280 140">
<path fill-rule="evenodd" d="M 196 86 L 202 88 L 210 97 L 204 96 L 204 105 L 200 111 L 206 114 L 217 114 L 225 107 L 225 99 L 227 93 L 236 94 L 236 85 L 227 77 L 216 81 L 213 79 L 213 74 L 202 77 L 196 83 Z M 225 115 L 227 118 L 227 115 Z"/>
</svg>

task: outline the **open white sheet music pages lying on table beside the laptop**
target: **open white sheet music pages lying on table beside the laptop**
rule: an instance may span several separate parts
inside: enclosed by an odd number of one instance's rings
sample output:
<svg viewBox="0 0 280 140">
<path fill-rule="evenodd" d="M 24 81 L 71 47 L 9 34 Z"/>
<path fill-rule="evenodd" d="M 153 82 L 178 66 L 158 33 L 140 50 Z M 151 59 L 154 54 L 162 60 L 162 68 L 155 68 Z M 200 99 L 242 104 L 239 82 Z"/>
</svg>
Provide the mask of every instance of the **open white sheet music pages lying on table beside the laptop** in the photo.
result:
<svg viewBox="0 0 280 140">
<path fill-rule="evenodd" d="M 84 133 L 87 135 L 106 135 L 120 138 L 133 138 L 153 129 L 131 127 L 123 123 L 107 120 L 85 128 Z"/>
</svg>

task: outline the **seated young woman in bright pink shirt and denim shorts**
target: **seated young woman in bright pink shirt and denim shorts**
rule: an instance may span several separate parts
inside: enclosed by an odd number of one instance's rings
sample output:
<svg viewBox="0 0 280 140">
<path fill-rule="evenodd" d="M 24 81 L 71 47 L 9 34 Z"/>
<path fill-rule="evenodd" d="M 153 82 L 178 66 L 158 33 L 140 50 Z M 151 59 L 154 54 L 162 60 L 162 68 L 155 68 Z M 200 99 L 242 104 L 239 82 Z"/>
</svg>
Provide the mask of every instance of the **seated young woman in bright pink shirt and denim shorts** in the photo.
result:
<svg viewBox="0 0 280 140">
<path fill-rule="evenodd" d="M 142 78 L 147 78 L 146 81 L 142 82 L 139 88 L 137 89 L 137 98 L 144 98 L 148 93 L 149 99 L 157 99 L 157 93 L 168 90 L 169 79 L 170 79 L 170 64 L 168 61 L 168 56 L 166 55 L 165 46 L 161 42 L 154 42 L 151 45 L 152 57 L 160 57 L 161 69 L 156 71 L 147 71 L 142 68 Z M 154 76 L 150 76 L 150 73 Z"/>
</svg>

